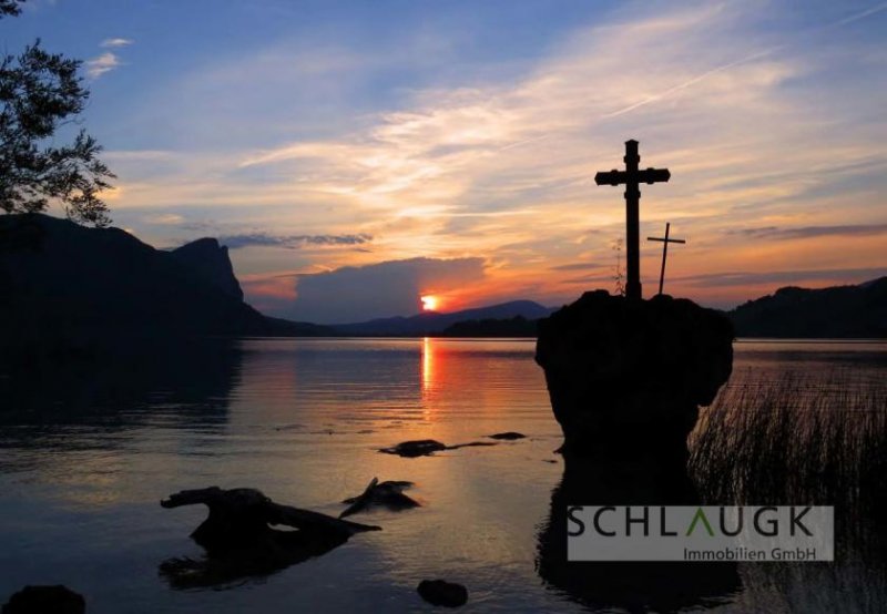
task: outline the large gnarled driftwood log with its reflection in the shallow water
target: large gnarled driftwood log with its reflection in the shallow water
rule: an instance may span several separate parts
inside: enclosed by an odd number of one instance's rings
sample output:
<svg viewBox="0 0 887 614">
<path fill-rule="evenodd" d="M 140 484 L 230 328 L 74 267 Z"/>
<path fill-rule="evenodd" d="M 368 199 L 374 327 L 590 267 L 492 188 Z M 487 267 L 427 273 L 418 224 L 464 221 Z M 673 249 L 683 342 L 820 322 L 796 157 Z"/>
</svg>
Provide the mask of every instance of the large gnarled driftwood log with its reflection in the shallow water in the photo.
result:
<svg viewBox="0 0 887 614">
<path fill-rule="evenodd" d="M 210 515 L 191 534 L 206 550 L 206 557 L 200 561 L 170 559 L 161 563 L 161 574 L 175 587 L 207 586 L 244 576 L 267 575 L 325 554 L 355 533 L 379 530 L 282 505 L 255 489 L 183 490 L 161 501 L 164 508 L 196 504 L 210 508 Z M 295 531 L 273 529 L 277 525 Z"/>
</svg>

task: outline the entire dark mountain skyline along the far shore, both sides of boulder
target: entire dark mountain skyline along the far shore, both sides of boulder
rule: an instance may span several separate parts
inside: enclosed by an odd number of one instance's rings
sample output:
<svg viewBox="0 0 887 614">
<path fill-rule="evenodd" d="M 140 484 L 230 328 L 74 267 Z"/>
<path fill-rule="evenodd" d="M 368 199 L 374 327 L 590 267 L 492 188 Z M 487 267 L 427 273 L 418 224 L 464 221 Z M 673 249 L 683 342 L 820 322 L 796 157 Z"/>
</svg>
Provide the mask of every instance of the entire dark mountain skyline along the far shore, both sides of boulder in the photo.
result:
<svg viewBox="0 0 887 614">
<path fill-rule="evenodd" d="M 0 338 L 60 335 L 531 336 L 554 308 L 512 300 L 334 326 L 266 317 L 243 301 L 227 249 L 202 238 L 165 252 L 119 228 L 0 215 Z M 887 277 L 785 287 L 727 311 L 740 337 L 887 338 Z M 0 350 L 3 348 L 0 347 Z"/>
</svg>

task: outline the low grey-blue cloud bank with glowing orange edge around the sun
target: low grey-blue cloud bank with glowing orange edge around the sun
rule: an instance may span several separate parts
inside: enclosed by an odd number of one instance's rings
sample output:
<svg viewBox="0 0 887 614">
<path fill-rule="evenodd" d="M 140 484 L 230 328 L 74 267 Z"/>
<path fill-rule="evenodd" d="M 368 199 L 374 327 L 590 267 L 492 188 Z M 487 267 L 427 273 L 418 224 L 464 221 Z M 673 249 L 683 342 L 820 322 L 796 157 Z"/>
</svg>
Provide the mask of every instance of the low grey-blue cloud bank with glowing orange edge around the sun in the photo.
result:
<svg viewBox="0 0 887 614">
<path fill-rule="evenodd" d="M 418 311 L 419 296 L 446 295 L 483 276 L 482 258 L 410 258 L 341 267 L 299 276 L 295 300 L 287 308 L 278 305 L 276 313 L 319 324 L 409 316 Z"/>
</svg>

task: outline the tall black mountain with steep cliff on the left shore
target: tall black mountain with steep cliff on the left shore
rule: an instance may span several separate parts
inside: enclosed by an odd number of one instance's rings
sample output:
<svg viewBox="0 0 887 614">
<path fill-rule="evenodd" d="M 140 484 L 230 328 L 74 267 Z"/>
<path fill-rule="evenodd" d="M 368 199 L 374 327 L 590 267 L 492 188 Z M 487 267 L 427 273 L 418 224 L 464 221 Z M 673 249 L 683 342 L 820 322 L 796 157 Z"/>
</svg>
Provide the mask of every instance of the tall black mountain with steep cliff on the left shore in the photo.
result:
<svg viewBox="0 0 887 614">
<path fill-rule="evenodd" d="M 120 228 L 41 214 L 0 217 L 0 334 L 20 347 L 116 336 L 297 335 L 243 301 L 227 250 L 200 239 L 155 249 Z"/>
</svg>

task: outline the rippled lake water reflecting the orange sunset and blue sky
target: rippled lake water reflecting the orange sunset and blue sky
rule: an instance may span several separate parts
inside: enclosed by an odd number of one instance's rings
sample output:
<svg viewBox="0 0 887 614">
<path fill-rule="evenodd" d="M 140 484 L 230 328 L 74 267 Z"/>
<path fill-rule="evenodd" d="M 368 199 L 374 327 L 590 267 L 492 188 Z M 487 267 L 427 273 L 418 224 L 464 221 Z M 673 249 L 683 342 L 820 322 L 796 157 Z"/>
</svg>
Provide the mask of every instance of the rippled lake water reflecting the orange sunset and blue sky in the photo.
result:
<svg viewBox="0 0 887 614">
<path fill-rule="evenodd" d="M 247 339 L 0 373 L 0 600 L 24 584 L 61 583 L 85 595 L 90 613 L 422 612 L 431 606 L 416 585 L 443 577 L 468 586 L 465 612 L 582 611 L 537 573 L 562 461 L 533 348 L 530 340 Z M 887 410 L 887 344 L 735 349 L 733 390 L 791 371 L 805 375 L 806 395 L 865 388 L 875 407 L 861 411 Z M 528 439 L 417 459 L 376 451 L 500 431 Z M 416 482 L 410 494 L 424 506 L 356 515 L 384 530 L 267 577 L 181 591 L 157 574 L 165 559 L 201 555 L 188 533 L 205 509 L 164 510 L 159 501 L 169 493 L 253 487 L 338 514 L 374 477 Z M 855 509 L 846 519 L 881 534 L 883 519 Z M 699 607 L 884 611 L 887 565 L 875 543 L 834 565 L 741 564 L 738 586 Z"/>
</svg>

